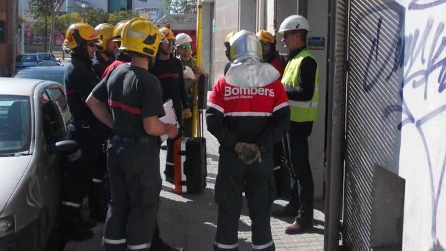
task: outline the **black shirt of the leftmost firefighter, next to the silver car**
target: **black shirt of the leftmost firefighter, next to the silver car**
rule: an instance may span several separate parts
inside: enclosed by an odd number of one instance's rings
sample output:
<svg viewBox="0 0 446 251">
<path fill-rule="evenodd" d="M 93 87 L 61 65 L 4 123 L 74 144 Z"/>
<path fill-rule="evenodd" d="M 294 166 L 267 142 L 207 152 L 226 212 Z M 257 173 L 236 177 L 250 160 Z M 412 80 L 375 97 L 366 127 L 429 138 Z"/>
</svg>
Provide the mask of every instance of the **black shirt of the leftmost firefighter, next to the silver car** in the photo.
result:
<svg viewBox="0 0 446 251">
<path fill-rule="evenodd" d="M 66 67 L 64 75 L 66 102 L 73 121 L 94 126 L 99 121 L 88 108 L 85 100 L 99 82 L 91 68 L 91 59 L 84 55 L 71 54 L 71 63 Z"/>
</svg>

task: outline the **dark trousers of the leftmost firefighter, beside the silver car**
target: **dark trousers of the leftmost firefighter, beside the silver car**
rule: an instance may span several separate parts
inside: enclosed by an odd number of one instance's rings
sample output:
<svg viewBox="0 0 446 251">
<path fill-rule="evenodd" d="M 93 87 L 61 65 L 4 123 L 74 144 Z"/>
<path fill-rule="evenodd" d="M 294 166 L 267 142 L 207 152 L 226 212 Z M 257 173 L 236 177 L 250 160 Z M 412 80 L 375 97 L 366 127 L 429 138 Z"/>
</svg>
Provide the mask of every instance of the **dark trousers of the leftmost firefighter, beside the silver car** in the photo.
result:
<svg viewBox="0 0 446 251">
<path fill-rule="evenodd" d="M 94 167 L 100 151 L 100 138 L 93 128 L 76 126 L 68 130 L 68 139 L 76 140 L 79 152 L 68 157 L 63 176 L 61 229 L 66 234 L 72 231 L 73 224 L 80 218 L 80 208 L 91 185 Z"/>
</svg>

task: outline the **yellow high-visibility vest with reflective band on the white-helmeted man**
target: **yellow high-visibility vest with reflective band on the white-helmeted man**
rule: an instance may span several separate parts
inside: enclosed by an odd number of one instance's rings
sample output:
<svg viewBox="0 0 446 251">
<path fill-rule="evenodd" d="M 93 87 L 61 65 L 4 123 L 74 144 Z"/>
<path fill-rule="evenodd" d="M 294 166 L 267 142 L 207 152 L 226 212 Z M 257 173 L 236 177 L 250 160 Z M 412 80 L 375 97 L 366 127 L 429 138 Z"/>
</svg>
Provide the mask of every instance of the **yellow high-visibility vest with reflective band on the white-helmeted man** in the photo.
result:
<svg viewBox="0 0 446 251">
<path fill-rule="evenodd" d="M 316 61 L 313 54 L 308 49 L 299 52 L 293 59 L 291 59 L 285 67 L 282 77 L 282 84 L 285 90 L 299 88 L 301 85 L 299 81 L 299 74 L 301 62 L 304 58 L 311 57 Z M 290 120 L 294 122 L 316 121 L 317 119 L 317 103 L 319 100 L 319 66 L 316 66 L 316 75 L 314 78 L 314 93 L 313 98 L 308 101 L 293 101 L 288 100 L 289 108 L 291 110 Z"/>
</svg>

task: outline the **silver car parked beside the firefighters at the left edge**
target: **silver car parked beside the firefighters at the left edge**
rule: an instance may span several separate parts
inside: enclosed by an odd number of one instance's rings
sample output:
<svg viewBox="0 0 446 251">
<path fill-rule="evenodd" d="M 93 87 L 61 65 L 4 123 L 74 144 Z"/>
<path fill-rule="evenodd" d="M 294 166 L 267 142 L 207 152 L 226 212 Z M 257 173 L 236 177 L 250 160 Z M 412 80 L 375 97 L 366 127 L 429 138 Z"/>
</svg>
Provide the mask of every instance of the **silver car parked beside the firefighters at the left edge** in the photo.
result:
<svg viewBox="0 0 446 251">
<path fill-rule="evenodd" d="M 43 250 L 56 222 L 63 140 L 71 119 L 62 85 L 0 78 L 0 250 Z"/>
</svg>

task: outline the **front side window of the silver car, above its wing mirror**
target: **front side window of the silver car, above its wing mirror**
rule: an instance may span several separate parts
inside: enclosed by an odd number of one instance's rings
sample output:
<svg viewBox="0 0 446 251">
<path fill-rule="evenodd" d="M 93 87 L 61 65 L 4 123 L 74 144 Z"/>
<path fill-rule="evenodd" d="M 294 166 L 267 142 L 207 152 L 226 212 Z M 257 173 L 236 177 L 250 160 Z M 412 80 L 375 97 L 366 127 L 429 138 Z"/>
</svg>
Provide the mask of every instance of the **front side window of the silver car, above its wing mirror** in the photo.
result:
<svg viewBox="0 0 446 251">
<path fill-rule="evenodd" d="M 42 124 L 47 144 L 58 141 L 65 134 L 56 104 L 49 98 L 47 92 L 42 92 L 40 98 L 42 108 Z"/>
</svg>

